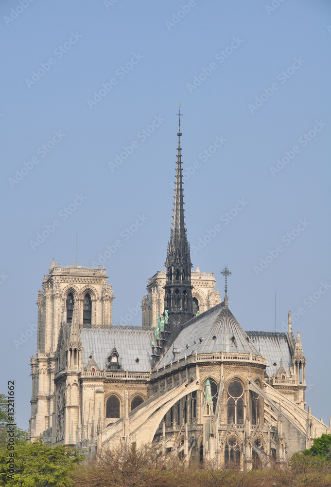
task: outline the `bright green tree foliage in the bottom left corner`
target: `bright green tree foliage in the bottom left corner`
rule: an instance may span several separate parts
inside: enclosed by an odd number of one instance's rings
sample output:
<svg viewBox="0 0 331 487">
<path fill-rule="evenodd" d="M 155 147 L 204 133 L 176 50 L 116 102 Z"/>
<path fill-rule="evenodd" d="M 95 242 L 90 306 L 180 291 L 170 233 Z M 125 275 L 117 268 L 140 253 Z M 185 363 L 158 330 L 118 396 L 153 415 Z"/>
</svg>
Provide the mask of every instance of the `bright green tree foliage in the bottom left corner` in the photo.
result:
<svg viewBox="0 0 331 487">
<path fill-rule="evenodd" d="M 71 447 L 50 447 L 42 439 L 32 443 L 20 441 L 15 445 L 13 478 L 8 477 L 9 451 L 0 450 L 0 485 L 14 487 L 69 486 L 70 472 L 84 457 Z"/>
</svg>

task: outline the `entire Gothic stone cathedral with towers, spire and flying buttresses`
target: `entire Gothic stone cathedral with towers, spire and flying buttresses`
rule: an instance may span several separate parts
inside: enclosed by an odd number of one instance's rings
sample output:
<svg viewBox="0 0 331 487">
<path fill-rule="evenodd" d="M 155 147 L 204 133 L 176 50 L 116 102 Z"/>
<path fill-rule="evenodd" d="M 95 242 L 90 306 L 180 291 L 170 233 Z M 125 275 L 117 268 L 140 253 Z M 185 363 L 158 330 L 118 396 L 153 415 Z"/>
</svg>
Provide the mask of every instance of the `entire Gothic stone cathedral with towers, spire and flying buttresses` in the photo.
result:
<svg viewBox="0 0 331 487">
<path fill-rule="evenodd" d="M 112 324 L 103 265 L 52 261 L 38 292 L 29 436 L 89 456 L 154 442 L 184 462 L 268 468 L 331 428 L 305 403 L 299 333 L 244 331 L 213 273 L 192 272 L 184 222 L 180 115 L 165 270 L 142 297 L 142 325 Z"/>
</svg>

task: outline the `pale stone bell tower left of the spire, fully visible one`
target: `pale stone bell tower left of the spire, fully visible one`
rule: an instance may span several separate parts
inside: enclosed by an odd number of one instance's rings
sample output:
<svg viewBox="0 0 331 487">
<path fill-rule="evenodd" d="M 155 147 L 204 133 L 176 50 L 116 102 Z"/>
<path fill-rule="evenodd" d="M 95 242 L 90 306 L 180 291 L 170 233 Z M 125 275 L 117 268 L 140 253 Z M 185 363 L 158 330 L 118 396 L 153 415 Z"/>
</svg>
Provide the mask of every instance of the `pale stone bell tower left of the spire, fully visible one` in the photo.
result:
<svg viewBox="0 0 331 487">
<path fill-rule="evenodd" d="M 63 266 L 52 261 L 38 292 L 36 356 L 31 357 L 32 397 L 29 436 L 33 440 L 52 427 L 55 352 L 61 322 L 71 324 L 73 308 L 78 326 L 110 328 L 112 286 L 106 271 L 77 263 Z"/>
</svg>

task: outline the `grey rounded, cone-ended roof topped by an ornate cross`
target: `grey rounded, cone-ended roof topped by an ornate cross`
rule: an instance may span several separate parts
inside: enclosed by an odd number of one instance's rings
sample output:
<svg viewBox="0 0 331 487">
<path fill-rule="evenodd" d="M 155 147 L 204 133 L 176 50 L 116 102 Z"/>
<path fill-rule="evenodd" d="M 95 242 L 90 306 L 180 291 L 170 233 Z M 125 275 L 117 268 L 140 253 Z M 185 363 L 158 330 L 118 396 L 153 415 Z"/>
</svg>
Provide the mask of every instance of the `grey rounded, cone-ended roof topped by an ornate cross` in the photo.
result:
<svg viewBox="0 0 331 487">
<path fill-rule="evenodd" d="M 194 350 L 198 354 L 221 352 L 222 349 L 224 352 L 247 354 L 251 350 L 253 354 L 262 355 L 224 303 L 193 318 L 175 338 L 159 368 L 174 360 L 173 347 L 180 350 L 179 359 L 185 354 L 194 354 Z"/>
</svg>

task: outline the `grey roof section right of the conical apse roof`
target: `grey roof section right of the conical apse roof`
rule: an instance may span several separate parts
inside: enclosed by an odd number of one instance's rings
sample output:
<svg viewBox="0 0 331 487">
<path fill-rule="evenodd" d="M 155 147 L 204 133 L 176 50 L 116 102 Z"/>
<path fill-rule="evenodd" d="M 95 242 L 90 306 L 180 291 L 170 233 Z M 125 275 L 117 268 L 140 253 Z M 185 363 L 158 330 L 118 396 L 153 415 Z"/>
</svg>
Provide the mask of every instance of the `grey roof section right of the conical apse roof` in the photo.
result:
<svg viewBox="0 0 331 487">
<path fill-rule="evenodd" d="M 274 375 L 278 371 L 281 359 L 284 369 L 289 374 L 292 356 L 285 333 L 248 331 L 247 335 L 254 340 L 254 345 L 262 356 L 267 353 L 266 375 Z"/>
</svg>

